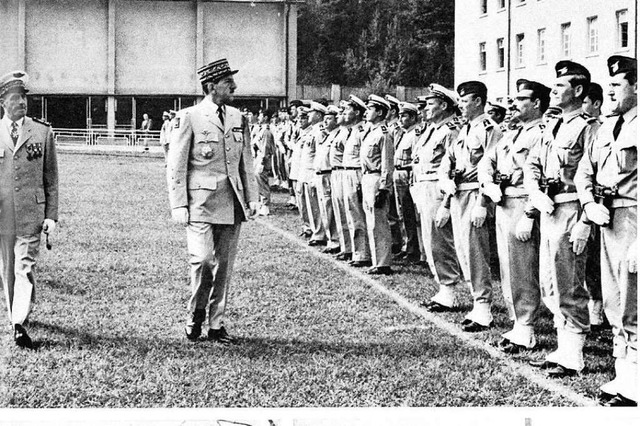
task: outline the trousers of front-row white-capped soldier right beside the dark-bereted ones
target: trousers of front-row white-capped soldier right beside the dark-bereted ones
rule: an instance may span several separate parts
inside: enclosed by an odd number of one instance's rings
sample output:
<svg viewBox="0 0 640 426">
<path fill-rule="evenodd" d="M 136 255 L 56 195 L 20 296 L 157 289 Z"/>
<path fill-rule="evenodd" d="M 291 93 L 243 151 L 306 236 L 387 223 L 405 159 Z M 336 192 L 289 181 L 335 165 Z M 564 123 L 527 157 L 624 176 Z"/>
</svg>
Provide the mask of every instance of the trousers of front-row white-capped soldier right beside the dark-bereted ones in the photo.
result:
<svg viewBox="0 0 640 426">
<path fill-rule="evenodd" d="M 415 182 L 411 193 L 418 207 L 422 245 L 434 279 L 440 285 L 458 284 L 462 281 L 462 270 L 453 242 L 451 220 L 442 228 L 436 226 L 436 213 L 442 204 L 437 181 Z"/>
</svg>

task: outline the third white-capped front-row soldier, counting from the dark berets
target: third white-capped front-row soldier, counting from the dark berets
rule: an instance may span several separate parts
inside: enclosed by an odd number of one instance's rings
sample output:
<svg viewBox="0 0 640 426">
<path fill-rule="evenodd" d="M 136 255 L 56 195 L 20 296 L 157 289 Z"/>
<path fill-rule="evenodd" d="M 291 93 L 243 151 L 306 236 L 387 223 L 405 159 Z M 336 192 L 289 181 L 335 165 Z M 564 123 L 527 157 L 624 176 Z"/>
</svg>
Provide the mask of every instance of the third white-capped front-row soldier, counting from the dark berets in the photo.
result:
<svg viewBox="0 0 640 426">
<path fill-rule="evenodd" d="M 349 95 L 343 116 L 345 125 L 352 130 L 344 145 L 342 165 L 344 167 L 343 192 L 344 204 L 347 211 L 347 224 L 353 248 L 349 265 L 356 268 L 371 265 L 367 222 L 362 209 L 362 163 L 360 162 L 360 148 L 364 136 L 365 123 L 362 120 L 367 105 L 355 95 Z"/>
</svg>

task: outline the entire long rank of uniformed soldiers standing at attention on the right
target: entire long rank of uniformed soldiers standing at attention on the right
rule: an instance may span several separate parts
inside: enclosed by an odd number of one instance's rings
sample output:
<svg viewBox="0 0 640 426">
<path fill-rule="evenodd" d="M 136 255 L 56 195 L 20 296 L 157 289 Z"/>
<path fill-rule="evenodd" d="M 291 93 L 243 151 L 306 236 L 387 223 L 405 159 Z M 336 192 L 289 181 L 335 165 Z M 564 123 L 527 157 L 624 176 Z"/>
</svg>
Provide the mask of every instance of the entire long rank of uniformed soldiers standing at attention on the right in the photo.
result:
<svg viewBox="0 0 640 426">
<path fill-rule="evenodd" d="M 514 321 L 501 350 L 536 347 L 544 303 L 557 349 L 530 363 L 550 377 L 576 375 L 604 304 L 616 361 L 599 400 L 637 405 L 637 65 L 612 56 L 607 66 L 602 123 L 583 112 L 591 76 L 571 61 L 556 64 L 551 88 L 518 80 L 502 126 L 485 113 L 478 81 L 457 93 L 432 84 L 417 105 L 377 95 L 294 101 L 273 131 L 264 115 L 254 128 L 261 201 L 268 206 L 271 173 L 288 177 L 309 245 L 369 274 L 393 273 L 394 255 L 426 258 L 439 285 L 422 303 L 431 312 L 456 310 L 455 288 L 466 282 L 467 332 L 493 326 L 494 238 Z M 285 159 L 273 160 L 278 152 Z"/>
</svg>

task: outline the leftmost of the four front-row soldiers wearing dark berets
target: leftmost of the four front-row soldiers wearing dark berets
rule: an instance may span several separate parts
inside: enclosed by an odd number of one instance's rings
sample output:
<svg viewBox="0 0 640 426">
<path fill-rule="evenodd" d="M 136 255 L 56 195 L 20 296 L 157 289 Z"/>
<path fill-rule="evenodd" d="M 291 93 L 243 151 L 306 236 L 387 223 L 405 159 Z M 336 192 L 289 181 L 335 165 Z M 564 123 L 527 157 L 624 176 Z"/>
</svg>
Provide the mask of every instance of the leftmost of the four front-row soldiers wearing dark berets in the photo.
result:
<svg viewBox="0 0 640 426">
<path fill-rule="evenodd" d="M 492 326 L 491 245 L 488 220 L 493 209 L 479 193 L 478 163 L 502 137 L 498 125 L 485 113 L 487 87 L 479 81 L 458 86 L 460 110 L 468 122 L 451 144 L 439 169 L 439 185 L 452 196 L 451 218 L 458 258 L 465 276 L 471 280 L 473 309 L 462 322 L 467 332 Z M 487 205 L 488 204 L 488 205 Z M 444 204 L 443 204 L 444 207 Z"/>
</svg>

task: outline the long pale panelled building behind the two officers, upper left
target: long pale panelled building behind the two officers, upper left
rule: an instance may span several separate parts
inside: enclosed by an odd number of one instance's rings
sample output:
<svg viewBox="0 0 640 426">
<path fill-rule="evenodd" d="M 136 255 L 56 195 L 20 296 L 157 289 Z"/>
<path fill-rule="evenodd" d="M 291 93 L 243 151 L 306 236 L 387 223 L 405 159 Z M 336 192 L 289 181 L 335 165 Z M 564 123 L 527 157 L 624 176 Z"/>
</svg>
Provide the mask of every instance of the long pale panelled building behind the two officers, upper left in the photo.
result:
<svg viewBox="0 0 640 426">
<path fill-rule="evenodd" d="M 0 74 L 30 76 L 29 114 L 57 128 L 161 126 L 226 57 L 239 107 L 295 95 L 298 0 L 0 0 Z"/>
</svg>

